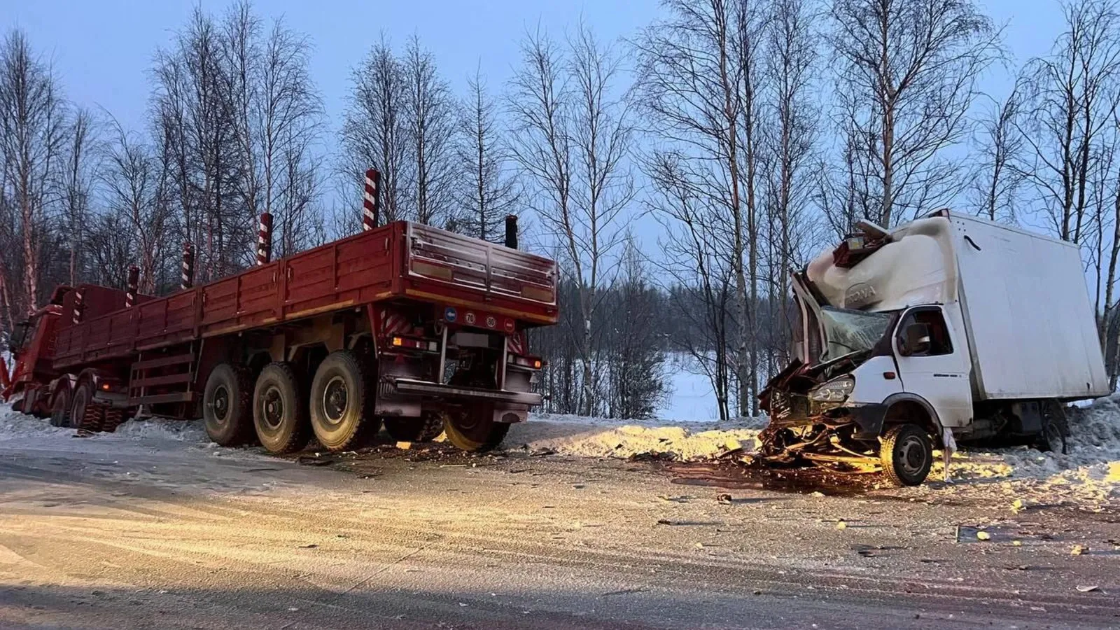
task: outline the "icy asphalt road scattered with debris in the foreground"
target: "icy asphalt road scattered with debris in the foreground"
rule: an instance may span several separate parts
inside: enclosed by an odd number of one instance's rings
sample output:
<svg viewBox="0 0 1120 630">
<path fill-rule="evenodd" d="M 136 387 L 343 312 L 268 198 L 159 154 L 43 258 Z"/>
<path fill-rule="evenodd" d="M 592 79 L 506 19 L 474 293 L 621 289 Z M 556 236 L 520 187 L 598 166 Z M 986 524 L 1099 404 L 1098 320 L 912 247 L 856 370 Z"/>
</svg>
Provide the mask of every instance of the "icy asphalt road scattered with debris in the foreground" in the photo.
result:
<svg viewBox="0 0 1120 630">
<path fill-rule="evenodd" d="M 0 628 L 1120 626 L 1120 516 L 990 488 L 721 504 L 652 463 L 0 442 Z"/>
</svg>

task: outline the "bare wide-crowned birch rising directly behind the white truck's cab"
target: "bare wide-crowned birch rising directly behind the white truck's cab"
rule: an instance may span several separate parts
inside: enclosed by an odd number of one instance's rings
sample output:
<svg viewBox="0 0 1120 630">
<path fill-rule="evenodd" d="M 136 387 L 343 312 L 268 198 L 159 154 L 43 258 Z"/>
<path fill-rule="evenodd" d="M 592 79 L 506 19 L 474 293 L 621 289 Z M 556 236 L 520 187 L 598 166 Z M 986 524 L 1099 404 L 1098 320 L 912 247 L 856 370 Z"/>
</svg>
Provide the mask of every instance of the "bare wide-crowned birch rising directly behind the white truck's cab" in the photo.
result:
<svg viewBox="0 0 1120 630">
<path fill-rule="evenodd" d="M 833 0 L 836 98 L 874 182 L 885 226 L 948 204 L 963 188 L 945 149 L 969 133 L 977 80 L 999 31 L 971 0 Z"/>
</svg>

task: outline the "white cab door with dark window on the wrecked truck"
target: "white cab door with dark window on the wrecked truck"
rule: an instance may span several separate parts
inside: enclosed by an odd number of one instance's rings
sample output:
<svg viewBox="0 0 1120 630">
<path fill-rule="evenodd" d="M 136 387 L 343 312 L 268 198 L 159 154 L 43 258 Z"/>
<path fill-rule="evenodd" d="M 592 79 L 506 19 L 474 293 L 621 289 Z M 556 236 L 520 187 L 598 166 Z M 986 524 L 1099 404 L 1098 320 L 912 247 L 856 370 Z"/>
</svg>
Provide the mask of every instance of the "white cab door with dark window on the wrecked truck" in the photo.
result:
<svg viewBox="0 0 1120 630">
<path fill-rule="evenodd" d="M 941 306 L 904 313 L 894 349 L 905 391 L 928 401 L 943 426 L 963 427 L 972 421 L 968 343 L 964 331 L 953 328 Z"/>
</svg>

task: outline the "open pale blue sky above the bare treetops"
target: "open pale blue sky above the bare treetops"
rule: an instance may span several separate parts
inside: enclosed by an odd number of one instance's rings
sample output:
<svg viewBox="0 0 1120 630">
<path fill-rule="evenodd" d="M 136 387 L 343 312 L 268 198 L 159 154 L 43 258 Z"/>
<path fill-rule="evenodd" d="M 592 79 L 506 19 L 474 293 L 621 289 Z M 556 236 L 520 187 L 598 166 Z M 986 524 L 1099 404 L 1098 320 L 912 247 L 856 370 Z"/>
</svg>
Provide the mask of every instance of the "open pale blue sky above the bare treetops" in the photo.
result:
<svg viewBox="0 0 1120 630">
<path fill-rule="evenodd" d="M 101 105 L 125 127 L 143 126 L 147 71 L 152 54 L 186 21 L 192 0 L 0 0 L 0 28 L 19 26 L 37 50 L 50 57 L 67 95 Z M 221 13 L 226 0 L 200 2 Z M 457 89 L 480 62 L 492 87 L 508 76 L 517 39 L 538 24 L 550 30 L 580 15 L 604 39 L 627 37 L 657 15 L 656 0 L 258 0 L 262 16 L 283 15 L 315 43 L 312 76 L 324 95 L 328 123 L 337 128 L 349 70 L 384 30 L 396 43 L 413 31 L 432 49 Z M 1007 25 L 1007 45 L 1018 62 L 1044 53 L 1061 28 L 1056 0 L 989 0 L 981 6 Z M 992 77 L 991 91 L 1004 81 Z"/>
</svg>

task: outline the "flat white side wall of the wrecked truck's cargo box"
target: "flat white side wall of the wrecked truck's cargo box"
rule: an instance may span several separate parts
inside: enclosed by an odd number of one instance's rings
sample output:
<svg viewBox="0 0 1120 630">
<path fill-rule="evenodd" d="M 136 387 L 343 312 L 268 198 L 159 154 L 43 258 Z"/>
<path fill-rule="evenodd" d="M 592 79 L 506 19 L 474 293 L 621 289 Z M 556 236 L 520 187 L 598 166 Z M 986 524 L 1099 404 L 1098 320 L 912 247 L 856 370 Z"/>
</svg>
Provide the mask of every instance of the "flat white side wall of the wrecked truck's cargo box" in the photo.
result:
<svg viewBox="0 0 1120 630">
<path fill-rule="evenodd" d="M 1105 396 L 1076 245 L 950 213 L 978 400 Z"/>
</svg>

